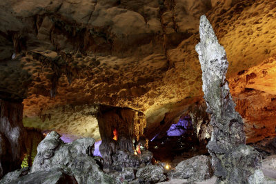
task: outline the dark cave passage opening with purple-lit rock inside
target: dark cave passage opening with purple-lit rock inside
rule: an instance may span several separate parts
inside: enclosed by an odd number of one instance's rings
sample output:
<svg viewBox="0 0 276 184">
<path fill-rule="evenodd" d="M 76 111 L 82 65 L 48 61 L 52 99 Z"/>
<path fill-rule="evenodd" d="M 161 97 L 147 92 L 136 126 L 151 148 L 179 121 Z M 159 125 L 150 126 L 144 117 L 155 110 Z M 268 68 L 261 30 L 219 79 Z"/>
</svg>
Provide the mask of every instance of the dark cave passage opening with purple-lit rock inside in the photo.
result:
<svg viewBox="0 0 276 184">
<path fill-rule="evenodd" d="M 179 159 L 189 159 L 199 154 L 208 155 L 208 139 L 199 141 L 197 128 L 191 116 L 182 114 L 166 132 L 157 132 L 150 140 L 148 150 L 157 161 L 177 164 Z"/>
</svg>

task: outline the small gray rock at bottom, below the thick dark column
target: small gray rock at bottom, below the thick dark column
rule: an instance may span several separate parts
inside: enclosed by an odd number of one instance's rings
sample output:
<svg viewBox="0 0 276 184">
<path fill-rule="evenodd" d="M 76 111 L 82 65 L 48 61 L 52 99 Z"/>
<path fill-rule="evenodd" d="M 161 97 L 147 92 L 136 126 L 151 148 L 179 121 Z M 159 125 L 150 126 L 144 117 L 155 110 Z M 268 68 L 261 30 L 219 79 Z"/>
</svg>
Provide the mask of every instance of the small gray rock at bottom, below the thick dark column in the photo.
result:
<svg viewBox="0 0 276 184">
<path fill-rule="evenodd" d="M 164 168 L 158 165 L 147 165 L 137 171 L 136 174 L 139 183 L 158 183 L 166 180 Z"/>
</svg>

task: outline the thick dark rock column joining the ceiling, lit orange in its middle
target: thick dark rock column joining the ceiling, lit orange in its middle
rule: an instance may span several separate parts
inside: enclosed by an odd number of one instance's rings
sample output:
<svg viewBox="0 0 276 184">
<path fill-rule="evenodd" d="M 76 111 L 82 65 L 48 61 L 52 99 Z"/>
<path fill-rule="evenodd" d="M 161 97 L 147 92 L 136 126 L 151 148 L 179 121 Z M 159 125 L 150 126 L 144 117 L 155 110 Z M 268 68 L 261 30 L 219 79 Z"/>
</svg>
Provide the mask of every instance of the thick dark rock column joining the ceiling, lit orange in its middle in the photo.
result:
<svg viewBox="0 0 276 184">
<path fill-rule="evenodd" d="M 121 167 L 137 167 L 139 161 L 133 158 L 134 147 L 132 140 L 139 141 L 140 136 L 144 133 L 144 127 L 146 127 L 144 114 L 130 108 L 100 105 L 97 119 L 101 134 L 99 151 L 105 164 L 111 165 L 113 162 L 118 161 L 123 164 Z M 113 139 L 115 130 L 117 131 L 117 140 Z M 119 150 L 121 150 L 121 153 L 117 154 Z M 127 159 L 130 157 L 137 160 L 137 163 L 128 161 Z"/>
</svg>

